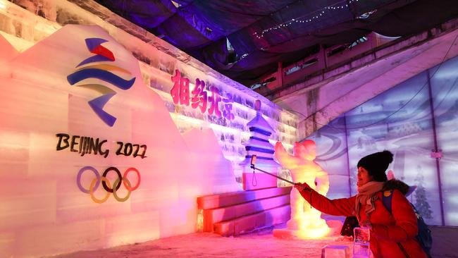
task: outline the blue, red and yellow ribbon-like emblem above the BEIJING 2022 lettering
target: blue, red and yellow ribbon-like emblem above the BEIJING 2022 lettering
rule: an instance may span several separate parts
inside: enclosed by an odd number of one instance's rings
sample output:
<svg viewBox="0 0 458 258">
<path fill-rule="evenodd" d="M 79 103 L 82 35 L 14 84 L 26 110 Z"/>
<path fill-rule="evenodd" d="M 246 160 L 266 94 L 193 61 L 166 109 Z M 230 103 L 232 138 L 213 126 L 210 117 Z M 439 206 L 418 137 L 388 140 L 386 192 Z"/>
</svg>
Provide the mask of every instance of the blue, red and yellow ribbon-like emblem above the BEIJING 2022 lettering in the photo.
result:
<svg viewBox="0 0 458 258">
<path fill-rule="evenodd" d="M 88 78 L 97 78 L 100 80 L 104 80 L 105 82 L 109 82 L 121 90 L 129 90 L 135 82 L 135 77 L 130 80 L 124 80 L 123 78 L 120 78 L 118 75 L 111 73 L 111 71 L 118 71 L 121 73 L 132 75 L 132 73 L 130 73 L 128 70 L 125 70 L 118 66 L 113 66 L 109 63 L 92 64 L 95 62 L 115 61 L 113 52 L 111 52 L 109 49 L 106 49 L 106 47 L 103 47 L 101 45 L 102 43 L 108 41 L 106 39 L 99 38 L 89 38 L 85 39 L 85 41 L 87 49 L 92 54 L 95 54 L 95 56 L 91 56 L 82 61 L 81 63 L 79 63 L 78 66 L 76 66 L 76 68 L 78 69 L 67 76 L 67 80 L 70 83 L 70 85 L 75 85 L 76 83 Z M 80 66 L 87 64 L 90 65 L 79 68 Z M 109 102 L 109 100 L 114 95 L 116 95 L 116 92 L 114 90 L 111 90 L 111 88 L 106 87 L 105 85 L 94 83 L 80 84 L 76 85 L 76 87 L 85 87 L 87 89 L 95 90 L 102 94 L 100 97 L 92 99 L 87 103 L 92 108 L 92 110 L 97 114 L 97 116 L 99 116 L 99 118 L 102 121 L 104 121 L 104 123 L 106 123 L 106 125 L 112 127 L 116 122 L 116 117 L 104 111 L 104 106 L 106 102 Z"/>
</svg>

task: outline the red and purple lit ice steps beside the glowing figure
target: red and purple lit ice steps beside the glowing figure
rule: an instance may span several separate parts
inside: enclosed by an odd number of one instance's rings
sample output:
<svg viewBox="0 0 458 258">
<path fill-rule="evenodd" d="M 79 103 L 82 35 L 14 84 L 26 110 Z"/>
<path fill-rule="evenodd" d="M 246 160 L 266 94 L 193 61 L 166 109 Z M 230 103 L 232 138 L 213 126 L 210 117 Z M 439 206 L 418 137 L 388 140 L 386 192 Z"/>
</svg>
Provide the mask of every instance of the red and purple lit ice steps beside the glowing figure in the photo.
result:
<svg viewBox="0 0 458 258">
<path fill-rule="evenodd" d="M 286 222 L 290 219 L 291 189 L 264 188 L 198 197 L 203 231 L 231 236 Z"/>
</svg>

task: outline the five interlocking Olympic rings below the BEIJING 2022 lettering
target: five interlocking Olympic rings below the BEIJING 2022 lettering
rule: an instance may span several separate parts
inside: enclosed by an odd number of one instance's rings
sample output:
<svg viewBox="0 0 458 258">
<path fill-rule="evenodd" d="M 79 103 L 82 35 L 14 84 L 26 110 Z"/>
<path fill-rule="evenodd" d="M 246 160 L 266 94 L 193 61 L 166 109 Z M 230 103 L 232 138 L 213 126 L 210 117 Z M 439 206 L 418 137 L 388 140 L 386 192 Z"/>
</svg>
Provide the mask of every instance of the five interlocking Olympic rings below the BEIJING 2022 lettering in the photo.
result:
<svg viewBox="0 0 458 258">
<path fill-rule="evenodd" d="M 82 173 L 84 173 L 85 171 L 88 171 L 88 170 L 92 171 L 94 173 L 95 178 L 92 180 L 91 185 L 89 186 L 89 189 L 86 189 L 81 185 L 81 176 L 82 176 Z M 111 183 L 106 178 L 106 175 L 110 171 L 115 171 L 116 174 L 118 175 L 118 178 L 116 178 L 116 180 L 115 180 L 115 182 L 113 184 L 113 188 L 111 188 Z M 132 187 L 132 185 L 130 184 L 130 181 L 128 180 L 128 173 L 130 171 L 134 171 L 135 173 L 137 173 L 138 182 L 134 187 Z M 106 190 L 106 195 L 102 199 L 97 199 L 94 196 L 94 191 L 97 190 L 97 188 L 99 188 L 100 182 L 101 182 L 101 185 Z M 123 198 L 119 197 L 118 194 L 116 193 L 116 191 L 121 186 L 121 182 L 123 182 L 123 185 L 124 185 L 125 189 L 128 190 L 128 194 Z M 102 176 L 100 176 L 100 174 L 97 171 L 97 169 L 95 169 L 92 166 L 85 166 L 84 168 L 81 168 L 80 171 L 78 171 L 78 176 L 76 177 L 76 184 L 78 185 L 78 188 L 80 188 L 81 192 L 85 192 L 85 193 L 91 195 L 91 199 L 94 202 L 97 202 L 99 204 L 106 202 L 106 200 L 110 197 L 110 193 L 111 192 L 113 192 L 113 197 L 116 200 L 118 200 L 118 202 L 125 202 L 125 201 L 127 201 L 129 199 L 130 193 L 132 191 L 135 191 L 139 187 L 139 185 L 140 185 L 140 172 L 137 170 L 137 168 L 128 168 L 128 169 L 126 169 L 124 171 L 124 174 L 121 176 L 121 173 L 118 170 L 118 168 L 115 168 L 114 166 L 111 166 L 109 168 L 106 168 L 104 173 L 102 174 Z"/>
</svg>

